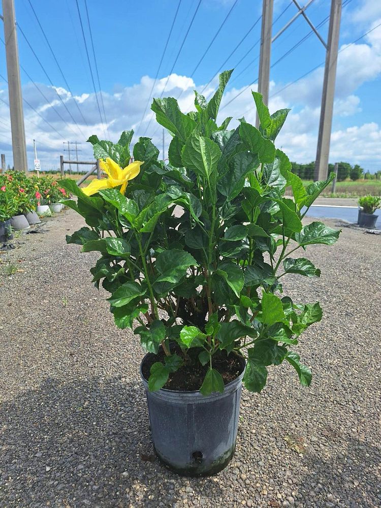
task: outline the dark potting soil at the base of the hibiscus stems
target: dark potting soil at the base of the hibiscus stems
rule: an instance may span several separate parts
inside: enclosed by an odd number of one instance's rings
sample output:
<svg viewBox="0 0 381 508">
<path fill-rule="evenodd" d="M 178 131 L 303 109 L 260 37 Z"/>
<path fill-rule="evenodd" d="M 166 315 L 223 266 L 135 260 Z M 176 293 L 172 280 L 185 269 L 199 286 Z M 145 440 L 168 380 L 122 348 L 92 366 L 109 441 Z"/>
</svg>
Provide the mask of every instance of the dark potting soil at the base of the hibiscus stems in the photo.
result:
<svg viewBox="0 0 381 508">
<path fill-rule="evenodd" d="M 203 366 L 198 360 L 198 355 L 201 351 L 202 348 L 199 347 L 193 347 L 188 350 L 188 356 L 190 357 L 189 365 L 183 365 L 176 372 L 171 372 L 163 388 L 176 391 L 200 390 L 209 368 L 209 363 Z M 178 344 L 171 344 L 171 353 L 182 356 Z M 164 363 L 164 359 L 165 353 L 162 348 L 157 355 L 153 353 L 147 355 L 142 365 L 142 372 L 145 379 L 148 380 L 151 366 L 155 362 Z M 226 351 L 217 351 L 217 353 L 213 355 L 212 367 L 221 374 L 225 385 L 234 381 L 242 372 L 242 365 L 237 355 L 234 353 L 228 355 Z"/>
</svg>

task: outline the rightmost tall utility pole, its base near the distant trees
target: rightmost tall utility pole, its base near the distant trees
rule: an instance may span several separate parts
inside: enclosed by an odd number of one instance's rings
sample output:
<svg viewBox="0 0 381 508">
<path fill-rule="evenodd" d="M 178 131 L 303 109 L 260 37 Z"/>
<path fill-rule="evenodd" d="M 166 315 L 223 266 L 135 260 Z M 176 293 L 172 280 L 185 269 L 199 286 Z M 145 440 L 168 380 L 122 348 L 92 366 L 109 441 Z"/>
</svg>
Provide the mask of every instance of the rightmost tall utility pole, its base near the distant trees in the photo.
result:
<svg viewBox="0 0 381 508">
<path fill-rule="evenodd" d="M 325 180 L 328 176 L 329 146 L 331 141 L 333 100 L 335 97 L 337 52 L 342 0 L 332 0 L 329 20 L 328 48 L 324 70 L 322 109 L 320 112 L 319 138 L 317 139 L 315 180 Z"/>
</svg>

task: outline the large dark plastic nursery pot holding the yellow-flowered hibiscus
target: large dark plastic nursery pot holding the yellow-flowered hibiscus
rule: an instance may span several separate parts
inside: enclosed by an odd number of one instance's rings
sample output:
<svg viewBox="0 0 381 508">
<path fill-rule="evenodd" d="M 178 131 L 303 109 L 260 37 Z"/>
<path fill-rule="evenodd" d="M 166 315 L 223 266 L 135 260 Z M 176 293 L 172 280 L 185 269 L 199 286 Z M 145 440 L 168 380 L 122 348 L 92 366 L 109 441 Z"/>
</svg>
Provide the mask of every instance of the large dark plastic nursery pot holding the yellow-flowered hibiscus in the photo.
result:
<svg viewBox="0 0 381 508">
<path fill-rule="evenodd" d="M 236 447 L 242 377 L 225 385 L 223 393 L 204 397 L 197 391 L 167 389 L 150 392 L 142 366 L 152 440 L 157 456 L 178 474 L 209 476 L 224 469 Z"/>
</svg>

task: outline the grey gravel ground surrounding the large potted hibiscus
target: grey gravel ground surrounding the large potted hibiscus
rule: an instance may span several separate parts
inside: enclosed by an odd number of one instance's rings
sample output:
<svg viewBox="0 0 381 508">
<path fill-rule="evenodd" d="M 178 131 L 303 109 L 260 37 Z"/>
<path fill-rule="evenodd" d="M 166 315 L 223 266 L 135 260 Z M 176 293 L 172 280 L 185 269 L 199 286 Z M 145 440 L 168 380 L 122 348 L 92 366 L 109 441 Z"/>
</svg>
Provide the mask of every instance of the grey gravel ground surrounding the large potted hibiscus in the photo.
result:
<svg viewBox="0 0 381 508">
<path fill-rule="evenodd" d="M 313 383 L 282 365 L 243 390 L 232 462 L 187 479 L 153 455 L 144 353 L 90 284 L 94 257 L 66 245 L 80 225 L 65 211 L 0 254 L 0 271 L 20 269 L 0 277 L 2 508 L 381 505 L 379 236 L 343 228 L 307 253 L 320 279 L 285 279 L 325 309 L 298 346 Z"/>
</svg>

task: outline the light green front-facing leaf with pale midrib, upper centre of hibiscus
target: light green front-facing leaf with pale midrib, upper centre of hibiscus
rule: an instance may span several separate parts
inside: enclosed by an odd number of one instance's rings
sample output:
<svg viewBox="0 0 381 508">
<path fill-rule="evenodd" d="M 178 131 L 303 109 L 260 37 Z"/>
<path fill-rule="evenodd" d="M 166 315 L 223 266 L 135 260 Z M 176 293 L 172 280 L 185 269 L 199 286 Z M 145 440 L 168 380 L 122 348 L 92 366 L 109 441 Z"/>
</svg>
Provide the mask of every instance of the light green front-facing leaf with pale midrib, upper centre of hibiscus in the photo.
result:
<svg viewBox="0 0 381 508">
<path fill-rule="evenodd" d="M 186 168 L 209 180 L 217 171 L 221 151 L 209 138 L 192 134 L 182 150 L 182 162 Z"/>
</svg>

